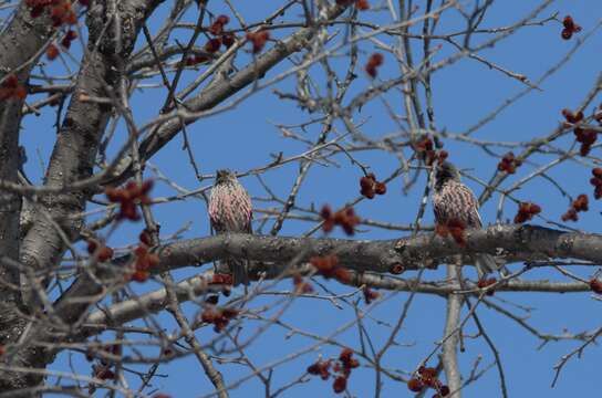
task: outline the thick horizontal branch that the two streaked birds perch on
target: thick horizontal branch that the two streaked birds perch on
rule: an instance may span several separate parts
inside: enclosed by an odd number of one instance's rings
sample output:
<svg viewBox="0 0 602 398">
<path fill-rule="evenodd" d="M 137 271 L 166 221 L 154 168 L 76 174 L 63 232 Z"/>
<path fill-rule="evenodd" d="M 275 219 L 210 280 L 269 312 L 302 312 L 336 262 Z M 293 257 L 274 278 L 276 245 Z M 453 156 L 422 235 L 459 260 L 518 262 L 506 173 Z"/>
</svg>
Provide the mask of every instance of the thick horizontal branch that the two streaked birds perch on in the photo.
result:
<svg viewBox="0 0 602 398">
<path fill-rule="evenodd" d="M 564 232 L 543 227 L 496 224 L 466 232 L 467 244 L 433 233 L 398 240 L 345 240 L 226 234 L 191 239 L 159 249 L 160 263 L 153 272 L 203 264 L 227 256 L 278 264 L 336 254 L 339 262 L 355 271 L 390 272 L 436 266 L 456 254 L 490 253 L 512 262 L 579 259 L 602 263 L 602 235 Z"/>
</svg>

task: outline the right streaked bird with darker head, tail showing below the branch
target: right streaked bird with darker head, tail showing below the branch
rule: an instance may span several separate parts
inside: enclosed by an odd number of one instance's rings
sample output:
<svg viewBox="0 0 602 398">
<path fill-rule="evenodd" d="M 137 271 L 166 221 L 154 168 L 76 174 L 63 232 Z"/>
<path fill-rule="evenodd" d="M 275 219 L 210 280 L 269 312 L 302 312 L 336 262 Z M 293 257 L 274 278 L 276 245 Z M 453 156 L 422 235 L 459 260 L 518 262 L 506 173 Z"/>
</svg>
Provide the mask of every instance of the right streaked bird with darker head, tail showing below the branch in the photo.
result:
<svg viewBox="0 0 602 398">
<path fill-rule="evenodd" d="M 452 163 L 443 161 L 435 167 L 434 182 L 432 200 L 437 224 L 459 221 L 468 229 L 482 227 L 479 202 L 470 188 L 461 182 L 460 174 Z M 474 260 L 479 279 L 500 268 L 491 254 L 478 253 Z"/>
</svg>

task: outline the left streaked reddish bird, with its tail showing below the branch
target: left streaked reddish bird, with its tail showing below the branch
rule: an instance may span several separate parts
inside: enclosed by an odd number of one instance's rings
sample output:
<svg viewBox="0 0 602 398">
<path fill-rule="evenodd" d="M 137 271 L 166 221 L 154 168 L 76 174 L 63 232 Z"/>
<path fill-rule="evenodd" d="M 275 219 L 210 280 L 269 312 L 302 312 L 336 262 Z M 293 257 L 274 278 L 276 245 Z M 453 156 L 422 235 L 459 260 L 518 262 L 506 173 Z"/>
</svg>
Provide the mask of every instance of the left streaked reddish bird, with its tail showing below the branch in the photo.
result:
<svg viewBox="0 0 602 398">
<path fill-rule="evenodd" d="M 252 203 L 249 193 L 240 185 L 236 174 L 221 169 L 216 172 L 216 180 L 209 197 L 209 221 L 216 234 L 241 232 L 252 233 Z M 225 259 L 217 263 L 216 272 L 232 275 L 235 286 L 249 284 L 246 260 Z"/>
</svg>

